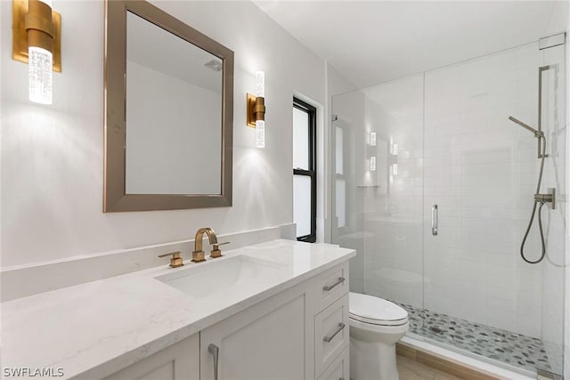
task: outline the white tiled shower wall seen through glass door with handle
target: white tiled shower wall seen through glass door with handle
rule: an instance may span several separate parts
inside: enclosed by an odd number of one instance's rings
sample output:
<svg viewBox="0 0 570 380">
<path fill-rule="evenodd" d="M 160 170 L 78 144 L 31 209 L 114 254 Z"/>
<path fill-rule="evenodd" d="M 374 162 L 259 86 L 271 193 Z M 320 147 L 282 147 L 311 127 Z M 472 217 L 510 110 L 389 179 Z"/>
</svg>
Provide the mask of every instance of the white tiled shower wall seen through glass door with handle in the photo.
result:
<svg viewBox="0 0 570 380">
<path fill-rule="evenodd" d="M 518 248 L 533 205 L 537 44 L 426 73 L 425 208 L 440 229 L 426 234 L 426 308 L 541 337 L 542 270 Z M 533 229 L 525 251 L 540 244 Z M 558 330 L 560 331 L 560 330 Z"/>
</svg>

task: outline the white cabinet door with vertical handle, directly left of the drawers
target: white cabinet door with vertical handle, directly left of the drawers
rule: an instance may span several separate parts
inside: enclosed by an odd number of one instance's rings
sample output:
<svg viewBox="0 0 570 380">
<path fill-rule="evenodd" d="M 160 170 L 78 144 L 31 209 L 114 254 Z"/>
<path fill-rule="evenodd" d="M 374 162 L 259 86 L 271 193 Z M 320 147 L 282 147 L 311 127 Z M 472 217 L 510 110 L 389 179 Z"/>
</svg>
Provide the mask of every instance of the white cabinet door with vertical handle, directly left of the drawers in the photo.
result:
<svg viewBox="0 0 570 380">
<path fill-rule="evenodd" d="M 313 292 L 292 287 L 200 332 L 200 379 L 314 378 Z"/>
</svg>

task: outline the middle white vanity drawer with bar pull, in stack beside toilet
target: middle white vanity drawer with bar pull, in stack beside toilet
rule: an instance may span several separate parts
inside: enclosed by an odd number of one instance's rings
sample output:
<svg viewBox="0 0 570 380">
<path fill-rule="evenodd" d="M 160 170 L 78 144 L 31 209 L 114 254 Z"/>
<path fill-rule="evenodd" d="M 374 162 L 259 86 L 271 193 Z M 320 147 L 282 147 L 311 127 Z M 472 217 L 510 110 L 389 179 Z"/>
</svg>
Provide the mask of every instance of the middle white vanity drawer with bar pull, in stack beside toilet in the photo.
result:
<svg viewBox="0 0 570 380">
<path fill-rule="evenodd" d="M 348 347 L 348 295 L 314 317 L 314 368 L 315 377 Z"/>
</svg>

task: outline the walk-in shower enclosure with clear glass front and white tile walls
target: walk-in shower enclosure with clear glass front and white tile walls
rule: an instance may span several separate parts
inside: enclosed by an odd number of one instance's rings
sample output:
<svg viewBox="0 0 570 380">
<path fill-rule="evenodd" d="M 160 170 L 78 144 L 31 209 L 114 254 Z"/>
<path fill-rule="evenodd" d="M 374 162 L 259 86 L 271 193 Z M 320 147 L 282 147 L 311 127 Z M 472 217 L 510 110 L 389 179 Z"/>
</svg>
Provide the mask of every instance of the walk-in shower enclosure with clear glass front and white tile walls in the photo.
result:
<svg viewBox="0 0 570 380">
<path fill-rule="evenodd" d="M 526 374 L 563 373 L 560 37 L 332 102 L 331 239 L 357 251 L 351 290 L 401 304 L 411 337 Z M 537 139 L 509 116 L 536 128 L 539 114 L 548 141 L 540 192 L 557 198 L 542 207 L 545 259 L 531 264 L 519 251 L 541 160 Z M 531 261 L 542 254 L 536 222 L 525 241 Z"/>
</svg>

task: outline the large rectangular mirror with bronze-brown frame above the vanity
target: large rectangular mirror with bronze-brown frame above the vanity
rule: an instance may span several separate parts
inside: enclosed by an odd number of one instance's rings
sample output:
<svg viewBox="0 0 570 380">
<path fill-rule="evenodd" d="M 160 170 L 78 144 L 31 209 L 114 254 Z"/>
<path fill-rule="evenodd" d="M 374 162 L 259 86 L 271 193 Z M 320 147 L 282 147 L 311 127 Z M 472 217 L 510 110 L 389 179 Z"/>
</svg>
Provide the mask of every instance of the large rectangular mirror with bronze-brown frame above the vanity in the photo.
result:
<svg viewBox="0 0 570 380">
<path fill-rule="evenodd" d="M 233 52 L 107 1 L 104 212 L 232 206 Z"/>
</svg>

